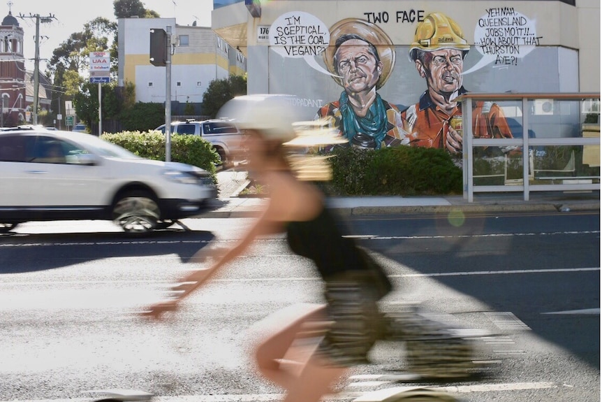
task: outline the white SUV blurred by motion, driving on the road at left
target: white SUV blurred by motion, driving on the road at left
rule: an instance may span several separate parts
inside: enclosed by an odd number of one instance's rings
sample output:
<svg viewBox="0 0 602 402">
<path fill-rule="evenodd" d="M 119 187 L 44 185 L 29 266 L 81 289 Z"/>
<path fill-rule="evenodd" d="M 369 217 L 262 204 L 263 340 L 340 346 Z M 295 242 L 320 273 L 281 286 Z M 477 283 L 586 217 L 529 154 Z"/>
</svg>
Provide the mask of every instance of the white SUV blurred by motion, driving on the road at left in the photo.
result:
<svg viewBox="0 0 602 402">
<path fill-rule="evenodd" d="M 210 174 L 143 159 L 96 136 L 0 131 L 0 232 L 43 220 L 113 220 L 129 233 L 169 227 L 211 207 Z"/>
</svg>

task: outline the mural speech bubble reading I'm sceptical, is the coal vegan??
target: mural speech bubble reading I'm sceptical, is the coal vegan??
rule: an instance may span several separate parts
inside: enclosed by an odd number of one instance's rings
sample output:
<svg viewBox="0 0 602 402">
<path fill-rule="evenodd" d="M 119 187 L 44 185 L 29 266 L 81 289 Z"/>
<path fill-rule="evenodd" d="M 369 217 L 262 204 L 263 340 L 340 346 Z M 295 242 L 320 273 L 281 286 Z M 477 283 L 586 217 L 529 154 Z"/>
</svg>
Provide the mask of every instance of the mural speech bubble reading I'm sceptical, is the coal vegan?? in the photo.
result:
<svg viewBox="0 0 602 402">
<path fill-rule="evenodd" d="M 291 11 L 270 26 L 270 46 L 282 57 L 302 57 L 312 69 L 334 76 L 316 62 L 330 43 L 328 27 L 315 15 Z M 338 77 L 338 76 L 335 76 Z"/>
</svg>

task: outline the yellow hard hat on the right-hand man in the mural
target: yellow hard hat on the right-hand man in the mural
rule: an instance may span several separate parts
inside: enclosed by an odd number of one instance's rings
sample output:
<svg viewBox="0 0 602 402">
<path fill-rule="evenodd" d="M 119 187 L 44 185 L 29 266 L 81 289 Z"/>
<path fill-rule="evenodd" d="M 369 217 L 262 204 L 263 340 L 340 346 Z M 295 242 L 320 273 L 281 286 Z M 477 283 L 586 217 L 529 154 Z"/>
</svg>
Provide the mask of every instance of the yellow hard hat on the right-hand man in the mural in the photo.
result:
<svg viewBox="0 0 602 402">
<path fill-rule="evenodd" d="M 414 42 L 410 47 L 410 59 L 416 60 L 416 50 L 432 52 L 439 49 L 469 50 L 462 28 L 442 13 L 432 13 L 416 27 Z"/>
</svg>

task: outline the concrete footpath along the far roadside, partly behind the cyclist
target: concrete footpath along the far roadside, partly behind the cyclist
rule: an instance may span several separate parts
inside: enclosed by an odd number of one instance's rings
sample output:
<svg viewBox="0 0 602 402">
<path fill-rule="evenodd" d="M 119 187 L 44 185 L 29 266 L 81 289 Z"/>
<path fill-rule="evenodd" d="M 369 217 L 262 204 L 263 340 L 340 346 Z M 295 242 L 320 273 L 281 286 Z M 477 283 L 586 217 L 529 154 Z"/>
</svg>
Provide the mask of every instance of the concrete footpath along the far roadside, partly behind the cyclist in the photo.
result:
<svg viewBox="0 0 602 402">
<path fill-rule="evenodd" d="M 242 196 L 247 187 L 246 171 L 221 171 L 217 173 L 220 189 L 214 208 L 203 217 L 249 217 L 265 206 L 266 200 L 258 196 Z M 332 197 L 330 206 L 342 215 L 379 215 L 387 213 L 449 213 L 600 210 L 600 192 L 531 192 L 524 201 L 522 192 L 476 193 L 469 203 L 457 196 L 357 196 Z"/>
</svg>

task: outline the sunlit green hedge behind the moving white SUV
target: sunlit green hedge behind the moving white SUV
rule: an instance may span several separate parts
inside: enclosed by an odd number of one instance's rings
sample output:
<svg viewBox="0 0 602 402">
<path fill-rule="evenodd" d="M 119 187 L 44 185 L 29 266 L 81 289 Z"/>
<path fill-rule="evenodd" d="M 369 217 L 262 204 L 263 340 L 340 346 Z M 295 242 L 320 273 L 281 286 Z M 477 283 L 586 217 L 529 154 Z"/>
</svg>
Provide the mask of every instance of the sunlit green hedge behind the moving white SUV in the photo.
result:
<svg viewBox="0 0 602 402">
<path fill-rule="evenodd" d="M 133 152 L 139 157 L 165 160 L 166 138 L 159 131 L 123 131 L 116 134 L 103 134 L 101 138 Z M 215 164 L 219 157 L 209 141 L 200 136 L 171 136 L 171 160 L 198 166 L 215 177 Z"/>
</svg>

